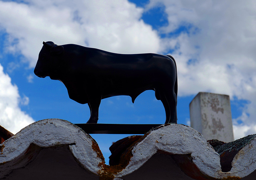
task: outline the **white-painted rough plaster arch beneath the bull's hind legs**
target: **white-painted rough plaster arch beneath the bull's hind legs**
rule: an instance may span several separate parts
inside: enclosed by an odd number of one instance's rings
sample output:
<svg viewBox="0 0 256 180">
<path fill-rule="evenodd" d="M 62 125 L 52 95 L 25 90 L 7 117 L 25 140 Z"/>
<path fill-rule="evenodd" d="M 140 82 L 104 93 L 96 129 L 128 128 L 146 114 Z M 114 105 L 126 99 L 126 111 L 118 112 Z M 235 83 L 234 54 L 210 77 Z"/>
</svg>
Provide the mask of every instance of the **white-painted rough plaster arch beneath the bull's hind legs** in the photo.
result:
<svg viewBox="0 0 256 180">
<path fill-rule="evenodd" d="M 138 143 L 132 151 L 130 164 L 116 177 L 125 176 L 138 169 L 157 150 L 174 155 L 191 154 L 194 164 L 202 173 L 211 177 L 218 176 L 218 172 L 221 171 L 220 156 L 198 131 L 185 125 L 170 124 L 151 131 Z"/>
</svg>

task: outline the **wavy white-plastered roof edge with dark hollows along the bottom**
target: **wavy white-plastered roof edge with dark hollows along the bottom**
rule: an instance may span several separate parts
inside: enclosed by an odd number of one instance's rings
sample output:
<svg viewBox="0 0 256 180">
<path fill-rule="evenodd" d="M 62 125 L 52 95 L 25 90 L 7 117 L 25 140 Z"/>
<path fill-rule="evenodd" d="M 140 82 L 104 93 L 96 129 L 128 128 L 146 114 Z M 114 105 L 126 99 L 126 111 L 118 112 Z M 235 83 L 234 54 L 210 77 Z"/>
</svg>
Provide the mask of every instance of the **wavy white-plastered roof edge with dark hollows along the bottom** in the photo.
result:
<svg viewBox="0 0 256 180">
<path fill-rule="evenodd" d="M 76 179 L 106 180 L 243 178 L 256 169 L 255 148 L 256 139 L 250 139 L 234 157 L 231 170 L 222 172 L 220 155 L 204 136 L 191 127 L 168 124 L 150 131 L 128 148 L 122 155 L 127 164 L 107 166 L 94 139 L 82 129 L 65 120 L 44 119 L 0 145 L 0 179 L 22 179 L 24 172 L 38 169 L 49 174 L 44 173 L 38 180 L 58 178 L 54 174 L 70 179 L 68 174 L 72 173 Z"/>
</svg>

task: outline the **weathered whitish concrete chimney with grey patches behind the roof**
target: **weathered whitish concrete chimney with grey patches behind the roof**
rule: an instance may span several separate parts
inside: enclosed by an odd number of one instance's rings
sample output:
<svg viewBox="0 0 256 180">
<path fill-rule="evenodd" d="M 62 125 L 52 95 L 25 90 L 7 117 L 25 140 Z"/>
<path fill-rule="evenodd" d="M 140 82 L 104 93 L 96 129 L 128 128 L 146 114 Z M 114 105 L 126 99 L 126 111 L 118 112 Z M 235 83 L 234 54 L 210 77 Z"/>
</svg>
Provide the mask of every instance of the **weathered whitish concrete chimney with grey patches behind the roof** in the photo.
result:
<svg viewBox="0 0 256 180">
<path fill-rule="evenodd" d="M 199 92 L 189 108 L 191 127 L 207 140 L 234 141 L 228 95 Z"/>
</svg>

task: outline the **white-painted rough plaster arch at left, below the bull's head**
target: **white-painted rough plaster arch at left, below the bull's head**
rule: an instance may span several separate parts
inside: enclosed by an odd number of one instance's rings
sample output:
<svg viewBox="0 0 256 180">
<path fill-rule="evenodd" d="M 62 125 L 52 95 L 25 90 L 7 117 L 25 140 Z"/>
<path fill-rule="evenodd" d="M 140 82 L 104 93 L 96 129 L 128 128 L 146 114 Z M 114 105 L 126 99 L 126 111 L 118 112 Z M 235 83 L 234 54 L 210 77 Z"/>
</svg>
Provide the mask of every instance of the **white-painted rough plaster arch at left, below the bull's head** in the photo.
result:
<svg viewBox="0 0 256 180">
<path fill-rule="evenodd" d="M 0 178 L 3 178 L 4 175 L 9 174 L 14 169 L 26 166 L 30 162 L 30 158 L 36 156 L 34 155 L 35 153 L 31 153 L 30 156 L 26 157 L 30 144 L 43 148 L 68 145 L 72 155 L 78 162 L 86 170 L 97 174 L 97 171 L 100 169 L 98 164 L 102 160 L 97 157 L 97 153 L 92 149 L 93 141 L 94 139 L 82 131 L 82 129 L 68 121 L 61 119 L 37 121 L 1 144 Z M 26 157 L 22 160 L 23 163 L 14 161 L 13 164 L 10 163 L 8 167 L 5 167 L 7 162 L 14 160 L 20 155 Z"/>
</svg>

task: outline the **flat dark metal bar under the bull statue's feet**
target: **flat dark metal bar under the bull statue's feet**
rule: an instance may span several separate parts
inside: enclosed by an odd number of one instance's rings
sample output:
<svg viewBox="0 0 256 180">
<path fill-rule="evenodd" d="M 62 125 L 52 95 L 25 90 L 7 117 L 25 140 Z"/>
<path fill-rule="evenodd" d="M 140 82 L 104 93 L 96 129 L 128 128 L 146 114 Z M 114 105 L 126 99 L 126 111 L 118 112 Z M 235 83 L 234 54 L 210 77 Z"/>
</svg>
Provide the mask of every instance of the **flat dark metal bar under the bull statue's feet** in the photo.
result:
<svg viewBox="0 0 256 180">
<path fill-rule="evenodd" d="M 75 124 L 87 134 L 145 134 L 162 124 Z"/>
</svg>

